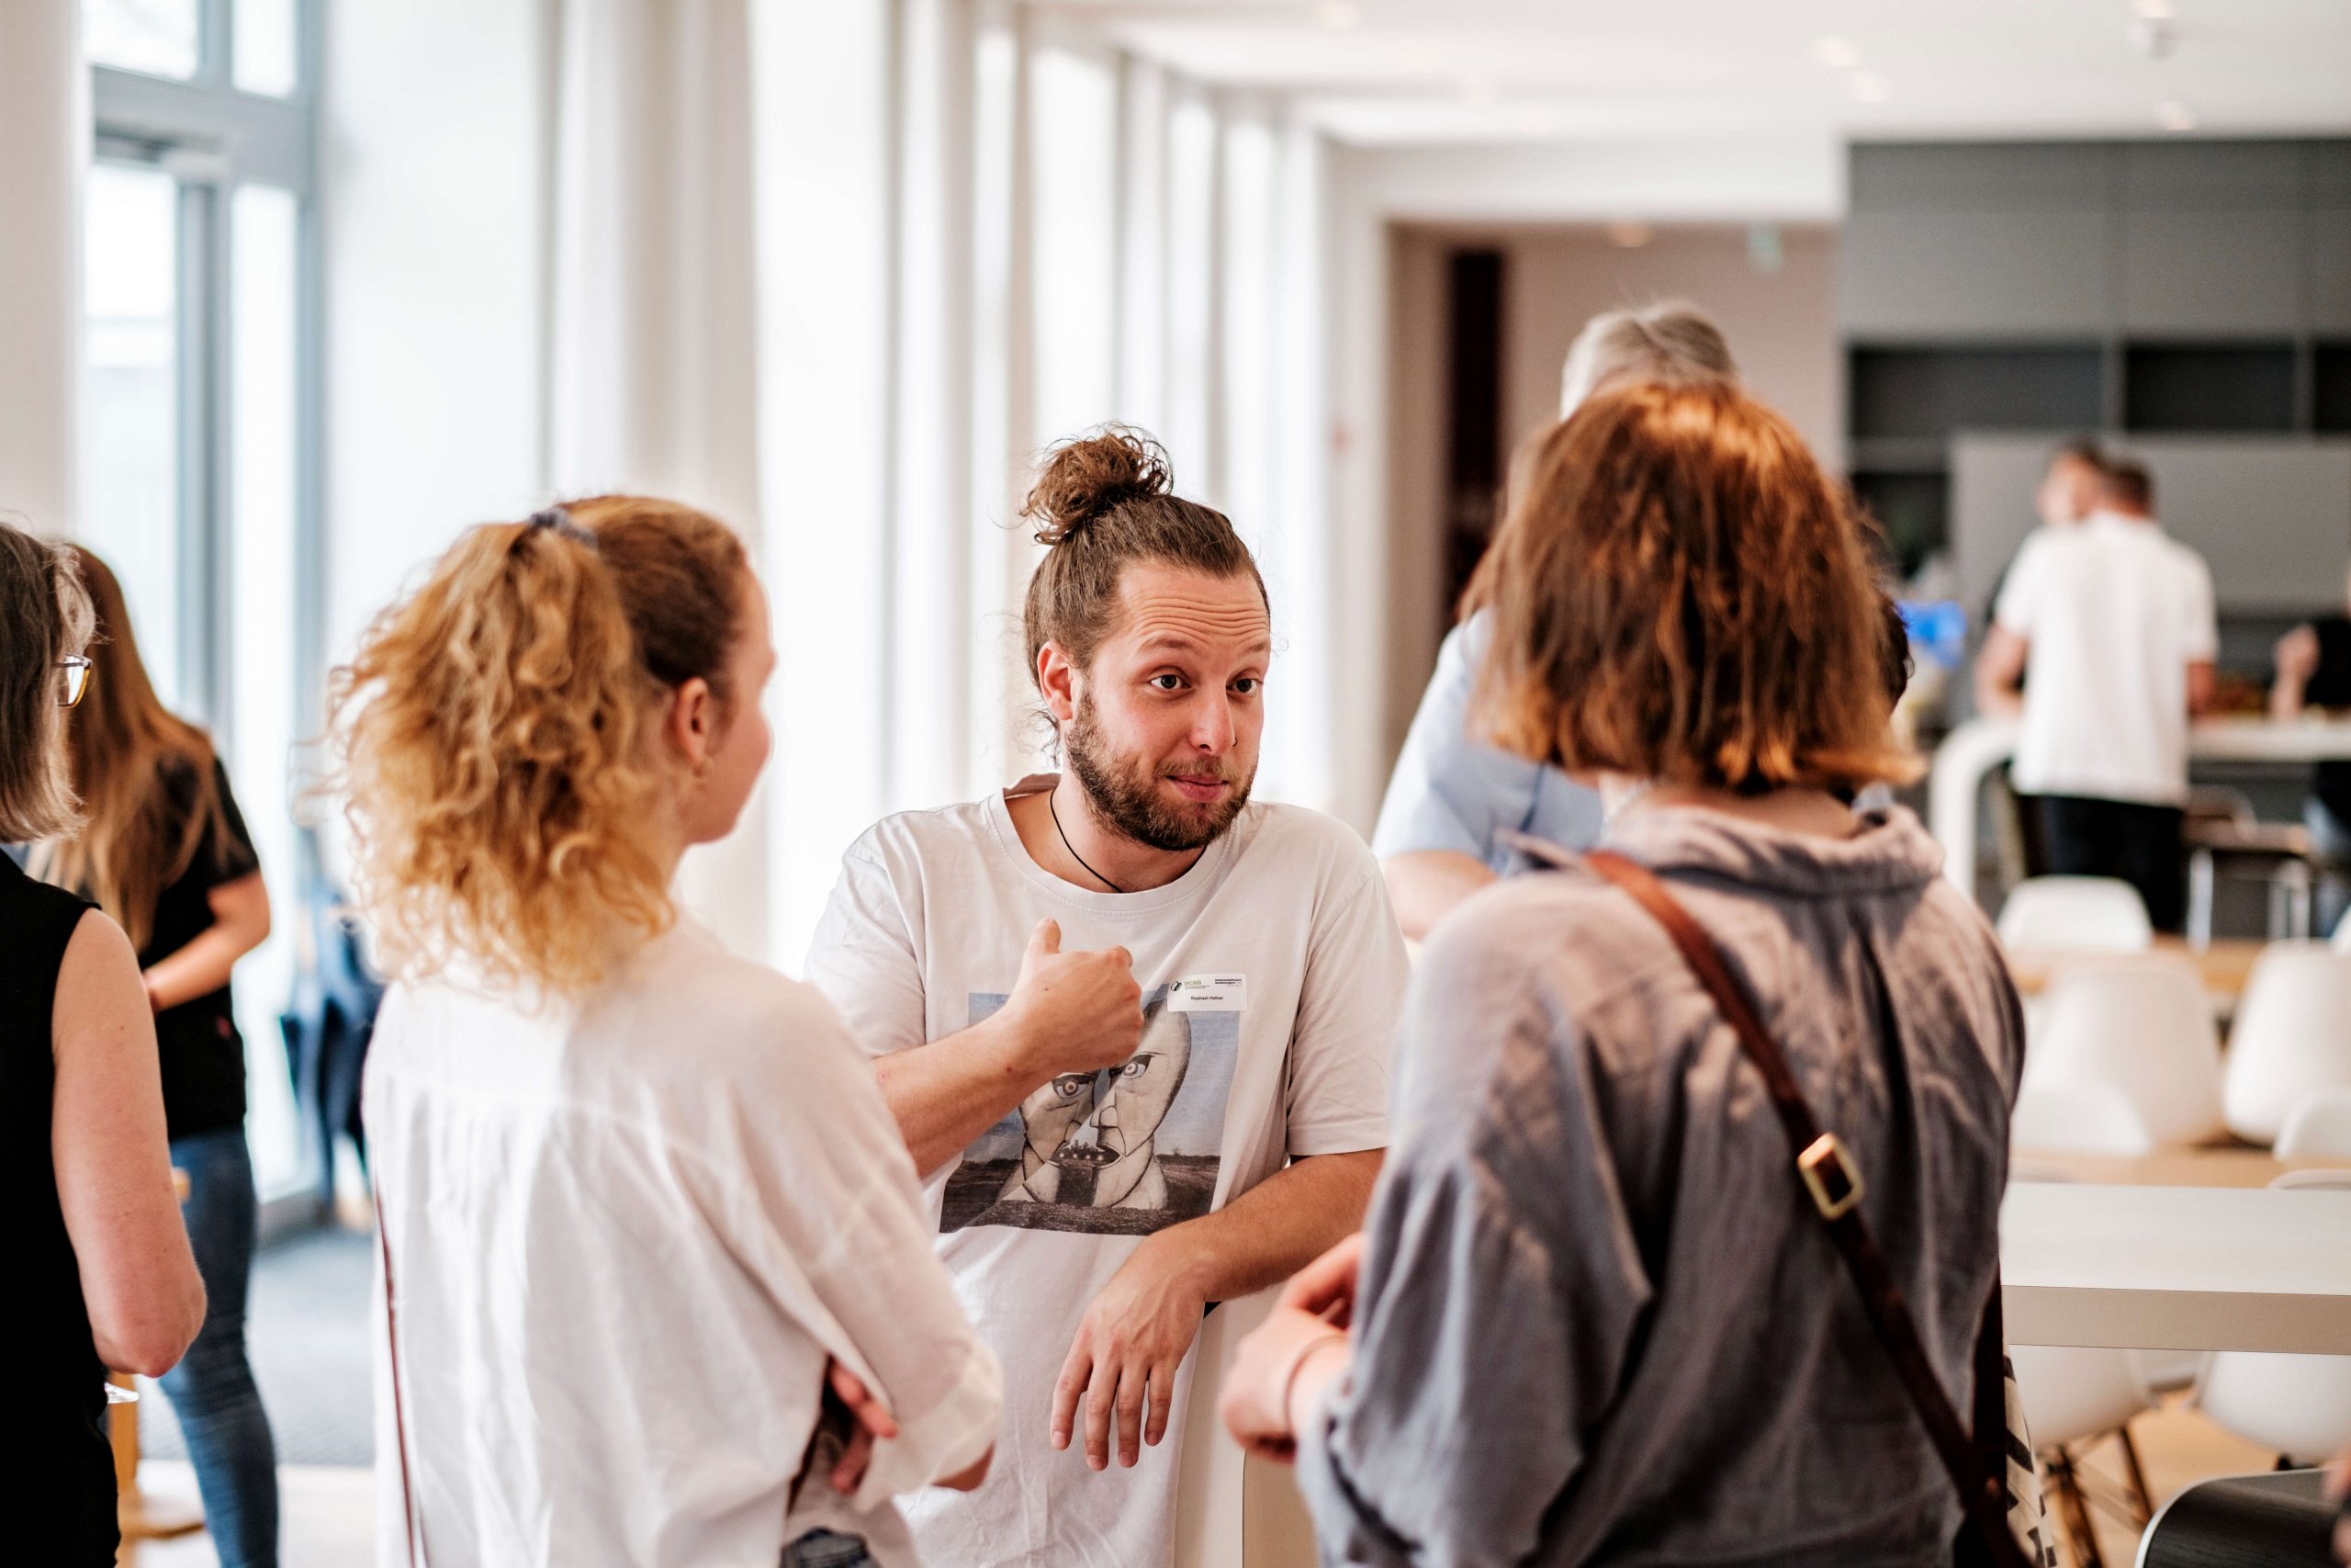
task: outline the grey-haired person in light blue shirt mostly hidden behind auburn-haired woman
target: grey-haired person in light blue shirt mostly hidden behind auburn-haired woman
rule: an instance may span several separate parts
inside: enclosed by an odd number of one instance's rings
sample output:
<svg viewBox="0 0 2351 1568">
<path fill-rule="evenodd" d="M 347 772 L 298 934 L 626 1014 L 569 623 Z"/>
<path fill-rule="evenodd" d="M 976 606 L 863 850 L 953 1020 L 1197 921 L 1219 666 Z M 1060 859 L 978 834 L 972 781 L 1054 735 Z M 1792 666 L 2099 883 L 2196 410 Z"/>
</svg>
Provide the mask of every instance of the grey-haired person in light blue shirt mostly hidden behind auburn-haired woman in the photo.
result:
<svg viewBox="0 0 2351 1568">
<path fill-rule="evenodd" d="M 1568 348 L 1559 414 L 1566 418 L 1603 386 L 1735 376 L 1730 346 L 1697 306 L 1608 310 L 1585 322 Z M 1446 632 L 1371 835 L 1396 922 L 1413 940 L 1509 867 L 1512 851 L 1498 835 L 1533 832 L 1582 849 L 1601 827 L 1599 795 L 1469 736 L 1469 691 L 1488 637 L 1481 616 Z"/>
</svg>

